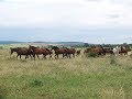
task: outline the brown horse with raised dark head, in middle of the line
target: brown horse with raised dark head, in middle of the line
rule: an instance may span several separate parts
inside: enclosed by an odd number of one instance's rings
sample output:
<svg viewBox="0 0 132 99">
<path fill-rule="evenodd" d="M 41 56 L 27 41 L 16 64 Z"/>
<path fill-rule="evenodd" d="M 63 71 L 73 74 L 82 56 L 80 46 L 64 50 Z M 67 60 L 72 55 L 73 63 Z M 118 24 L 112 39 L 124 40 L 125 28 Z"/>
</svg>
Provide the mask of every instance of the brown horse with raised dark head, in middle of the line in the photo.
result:
<svg viewBox="0 0 132 99">
<path fill-rule="evenodd" d="M 52 50 L 54 50 L 55 52 L 55 58 L 58 58 L 58 55 L 62 54 L 63 55 L 63 58 L 65 57 L 66 55 L 66 48 L 58 48 L 57 46 L 53 46 Z"/>
</svg>

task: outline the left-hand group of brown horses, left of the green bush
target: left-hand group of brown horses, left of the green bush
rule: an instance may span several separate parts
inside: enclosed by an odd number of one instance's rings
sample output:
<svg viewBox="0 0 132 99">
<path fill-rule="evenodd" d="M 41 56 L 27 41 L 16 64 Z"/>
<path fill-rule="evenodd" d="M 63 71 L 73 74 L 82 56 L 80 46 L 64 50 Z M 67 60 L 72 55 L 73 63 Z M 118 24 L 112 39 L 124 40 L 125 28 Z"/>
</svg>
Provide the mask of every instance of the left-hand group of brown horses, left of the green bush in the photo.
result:
<svg viewBox="0 0 132 99">
<path fill-rule="evenodd" d="M 25 59 L 29 58 L 29 56 L 31 57 L 31 59 L 32 58 L 35 59 L 36 56 L 40 59 L 38 55 L 43 55 L 43 58 L 46 58 L 46 56 L 50 55 L 50 58 L 52 58 L 53 51 L 55 53 L 55 58 L 58 58 L 61 54 L 63 55 L 63 58 L 65 57 L 70 58 L 72 55 L 73 57 L 75 57 L 75 54 L 76 54 L 75 48 L 67 48 L 67 47 L 59 48 L 57 46 L 53 46 L 52 50 L 48 50 L 44 47 L 40 48 L 40 47 L 30 45 L 29 47 L 13 47 L 10 50 L 11 50 L 11 55 L 15 52 L 18 54 L 16 58 L 18 57 L 21 58 L 22 55 L 25 55 Z"/>
</svg>

